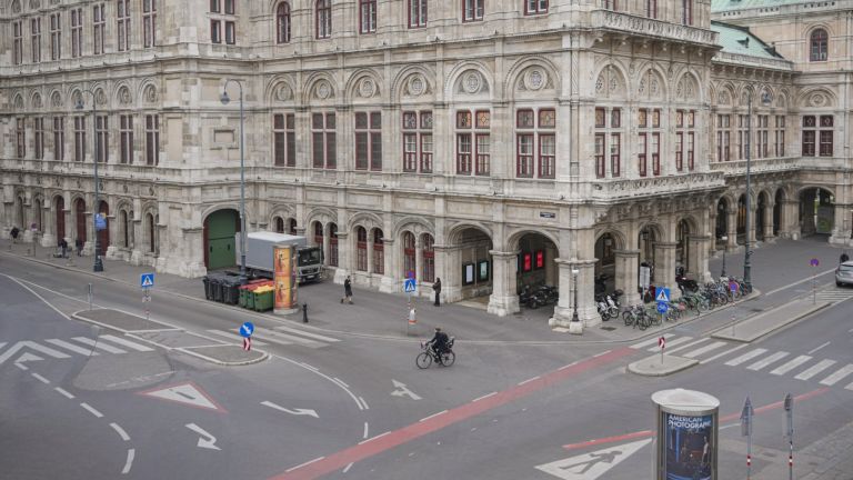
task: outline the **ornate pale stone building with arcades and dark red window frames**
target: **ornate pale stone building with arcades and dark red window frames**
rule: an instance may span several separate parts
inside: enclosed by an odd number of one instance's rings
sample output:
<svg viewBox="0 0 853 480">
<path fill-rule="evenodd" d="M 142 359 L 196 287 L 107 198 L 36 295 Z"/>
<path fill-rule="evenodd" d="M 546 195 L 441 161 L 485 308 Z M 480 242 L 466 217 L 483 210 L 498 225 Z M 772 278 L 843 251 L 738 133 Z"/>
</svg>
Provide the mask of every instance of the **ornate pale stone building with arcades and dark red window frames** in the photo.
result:
<svg viewBox="0 0 853 480">
<path fill-rule="evenodd" d="M 97 209 L 109 258 L 233 264 L 242 94 L 249 230 L 496 314 L 545 282 L 563 323 L 576 286 L 589 326 L 596 273 L 636 301 L 642 262 L 678 291 L 746 236 L 850 243 L 852 28 L 847 2 L 2 0 L 0 226 L 91 254 Z"/>
</svg>

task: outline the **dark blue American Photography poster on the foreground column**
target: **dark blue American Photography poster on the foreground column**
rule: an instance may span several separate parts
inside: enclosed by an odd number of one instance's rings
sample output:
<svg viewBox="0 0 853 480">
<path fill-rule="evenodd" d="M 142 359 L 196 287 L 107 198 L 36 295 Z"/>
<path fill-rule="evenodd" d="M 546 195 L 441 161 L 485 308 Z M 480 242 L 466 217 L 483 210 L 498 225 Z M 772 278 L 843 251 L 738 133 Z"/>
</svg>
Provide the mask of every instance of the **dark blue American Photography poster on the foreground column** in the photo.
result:
<svg viewBox="0 0 853 480">
<path fill-rule="evenodd" d="M 714 450 L 713 416 L 664 412 L 666 480 L 711 480 Z"/>
</svg>

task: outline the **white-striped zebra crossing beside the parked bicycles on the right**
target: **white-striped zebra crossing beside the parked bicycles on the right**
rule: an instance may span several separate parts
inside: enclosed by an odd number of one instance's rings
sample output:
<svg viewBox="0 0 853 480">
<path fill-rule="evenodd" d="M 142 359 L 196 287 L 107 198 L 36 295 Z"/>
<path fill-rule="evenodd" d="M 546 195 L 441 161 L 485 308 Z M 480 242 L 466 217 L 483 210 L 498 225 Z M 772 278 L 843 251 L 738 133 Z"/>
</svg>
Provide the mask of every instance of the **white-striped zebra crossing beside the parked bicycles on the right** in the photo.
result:
<svg viewBox="0 0 853 480">
<path fill-rule="evenodd" d="M 791 376 L 796 380 L 817 381 L 822 386 L 837 384 L 853 391 L 853 363 L 834 359 L 816 359 L 812 356 L 792 356 L 786 351 L 771 351 L 747 343 L 730 343 L 709 337 L 695 338 L 665 333 L 666 353 L 696 359 L 700 363 L 721 360 L 727 367 L 737 367 L 751 372 L 766 372 L 772 376 Z M 676 346 L 675 348 L 670 348 Z M 660 352 L 658 338 L 631 346 L 634 350 Z M 845 382 L 849 382 L 845 384 Z"/>
</svg>

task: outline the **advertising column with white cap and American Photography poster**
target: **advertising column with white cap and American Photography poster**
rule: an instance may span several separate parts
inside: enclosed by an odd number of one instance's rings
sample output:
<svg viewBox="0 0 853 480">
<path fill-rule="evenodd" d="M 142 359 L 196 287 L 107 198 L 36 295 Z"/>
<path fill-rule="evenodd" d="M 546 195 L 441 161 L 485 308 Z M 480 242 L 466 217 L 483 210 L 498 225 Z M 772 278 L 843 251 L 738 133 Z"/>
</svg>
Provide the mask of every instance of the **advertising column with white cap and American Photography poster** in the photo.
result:
<svg viewBox="0 0 853 480">
<path fill-rule="evenodd" d="M 716 480 L 720 400 L 693 390 L 652 394 L 658 413 L 658 480 Z"/>
</svg>

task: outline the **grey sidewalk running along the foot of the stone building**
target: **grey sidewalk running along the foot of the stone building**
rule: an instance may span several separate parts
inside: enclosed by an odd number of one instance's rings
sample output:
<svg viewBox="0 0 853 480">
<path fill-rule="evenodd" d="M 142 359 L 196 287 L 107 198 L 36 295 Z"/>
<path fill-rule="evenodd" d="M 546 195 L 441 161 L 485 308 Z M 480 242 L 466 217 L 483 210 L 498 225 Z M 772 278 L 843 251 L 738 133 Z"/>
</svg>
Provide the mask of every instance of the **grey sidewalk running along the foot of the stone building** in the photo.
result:
<svg viewBox="0 0 853 480">
<path fill-rule="evenodd" d="M 103 260 L 104 271 L 92 272 L 92 257 L 72 257 L 71 262 L 64 259 L 52 258 L 53 249 L 38 248 L 38 257 L 31 256 L 32 243 L 11 246 L 8 240 L 0 240 L 0 252 L 28 258 L 57 268 L 68 269 L 117 281 L 133 288 L 139 288 L 139 279 L 142 273 L 153 271 L 150 267 L 134 267 L 123 261 Z M 28 250 L 30 257 L 27 257 Z M 811 288 L 809 281 L 809 267 L 811 258 L 821 260 L 824 272 L 837 263 L 841 250 L 825 242 L 813 240 L 784 241 L 780 240 L 774 246 L 760 246 L 753 256 L 753 282 L 764 294 L 749 299 L 735 307 L 712 310 L 702 317 L 690 316 L 678 322 L 664 322 L 663 326 L 653 327 L 640 331 L 632 327 L 625 327 L 621 319 L 603 322 L 600 326 L 584 329 L 583 336 L 571 336 L 553 331 L 548 326 L 550 308 L 538 310 L 522 309 L 521 312 L 509 317 L 495 317 L 482 309 L 468 307 L 460 303 L 432 306 L 426 298 L 415 298 L 418 323 L 413 329 L 408 327 L 407 298 L 403 293 L 388 294 L 373 290 L 354 289 L 354 304 L 341 304 L 339 302 L 343 288 L 327 280 L 321 283 L 302 286 L 299 289 L 300 302 L 308 303 L 309 323 L 302 324 L 301 311 L 289 317 L 279 317 L 271 313 L 262 314 L 267 319 L 280 322 L 298 322 L 303 328 L 338 334 L 382 338 L 423 338 L 431 336 L 436 326 L 450 331 L 458 339 L 466 342 L 500 343 L 516 342 L 529 344 L 590 344 L 590 343 L 619 343 L 630 342 L 651 336 L 660 336 L 663 331 L 673 328 L 696 329 L 701 333 L 717 330 L 731 324 L 732 317 L 749 318 L 755 313 L 772 309 L 791 300 L 786 291 L 776 292 L 790 283 L 806 280 L 799 287 L 807 292 Z M 0 258 L 2 258 L 0 256 Z M 802 259 L 792 262 L 791 259 Z M 726 257 L 726 270 L 729 273 L 741 274 L 743 254 L 729 254 Z M 719 276 L 722 259 L 712 259 L 710 270 Z M 784 266 L 784 267 L 782 267 Z M 826 283 L 830 273 L 824 273 L 821 284 Z M 795 290 L 797 286 L 794 286 Z M 174 294 L 204 301 L 201 279 L 185 279 L 167 273 L 157 273 L 154 291 L 158 294 Z M 470 302 L 464 302 L 470 303 Z M 223 309 L 239 309 L 238 307 L 218 304 Z M 242 310 L 242 309 L 240 309 Z"/>
</svg>

